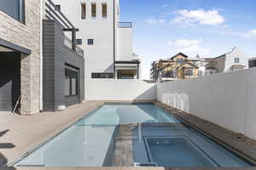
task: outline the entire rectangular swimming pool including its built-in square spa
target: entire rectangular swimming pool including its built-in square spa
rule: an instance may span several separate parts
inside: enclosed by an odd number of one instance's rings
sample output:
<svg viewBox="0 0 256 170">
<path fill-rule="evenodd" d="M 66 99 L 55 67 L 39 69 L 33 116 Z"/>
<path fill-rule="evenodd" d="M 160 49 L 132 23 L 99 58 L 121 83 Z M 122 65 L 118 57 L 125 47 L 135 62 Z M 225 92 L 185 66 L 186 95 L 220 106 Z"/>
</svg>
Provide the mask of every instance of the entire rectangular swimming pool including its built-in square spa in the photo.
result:
<svg viewBox="0 0 256 170">
<path fill-rule="evenodd" d="M 193 160 L 181 163 L 189 157 Z M 173 161 L 174 158 L 177 161 Z M 102 105 L 15 166 L 125 167 L 143 164 L 250 166 L 153 104 Z"/>
</svg>

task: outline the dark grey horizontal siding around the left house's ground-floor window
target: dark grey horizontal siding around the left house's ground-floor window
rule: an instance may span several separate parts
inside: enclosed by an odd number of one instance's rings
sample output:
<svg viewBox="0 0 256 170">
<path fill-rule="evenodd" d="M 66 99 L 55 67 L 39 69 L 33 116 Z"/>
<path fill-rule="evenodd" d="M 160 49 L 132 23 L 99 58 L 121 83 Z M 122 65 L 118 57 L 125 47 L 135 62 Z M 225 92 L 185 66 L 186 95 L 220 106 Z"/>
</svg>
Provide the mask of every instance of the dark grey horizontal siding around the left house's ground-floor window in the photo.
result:
<svg viewBox="0 0 256 170">
<path fill-rule="evenodd" d="M 44 20 L 44 111 L 57 111 L 59 105 L 73 105 L 84 99 L 84 58 L 64 45 L 64 37 L 53 20 Z M 65 67 L 79 69 L 79 95 L 65 97 Z"/>
</svg>

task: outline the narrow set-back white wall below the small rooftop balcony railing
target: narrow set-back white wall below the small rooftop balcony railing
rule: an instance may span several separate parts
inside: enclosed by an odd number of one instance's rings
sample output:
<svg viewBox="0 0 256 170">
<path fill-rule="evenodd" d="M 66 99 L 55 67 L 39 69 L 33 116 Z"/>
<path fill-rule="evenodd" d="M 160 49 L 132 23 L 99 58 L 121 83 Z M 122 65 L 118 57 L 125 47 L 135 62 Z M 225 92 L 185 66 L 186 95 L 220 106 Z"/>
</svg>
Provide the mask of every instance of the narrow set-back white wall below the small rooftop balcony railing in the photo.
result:
<svg viewBox="0 0 256 170">
<path fill-rule="evenodd" d="M 117 60 L 132 60 L 132 28 L 118 29 Z"/>
</svg>

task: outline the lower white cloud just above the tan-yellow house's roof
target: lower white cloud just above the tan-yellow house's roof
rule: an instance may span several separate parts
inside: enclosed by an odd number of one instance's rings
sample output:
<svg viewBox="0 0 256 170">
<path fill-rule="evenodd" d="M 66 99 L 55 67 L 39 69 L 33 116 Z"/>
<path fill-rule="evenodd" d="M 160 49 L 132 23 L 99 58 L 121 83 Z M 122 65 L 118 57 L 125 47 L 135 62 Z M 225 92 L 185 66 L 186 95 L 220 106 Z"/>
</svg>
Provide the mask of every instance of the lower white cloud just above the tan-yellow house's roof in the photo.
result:
<svg viewBox="0 0 256 170">
<path fill-rule="evenodd" d="M 209 54 L 210 49 L 201 47 L 201 40 L 178 39 L 175 42 L 168 42 L 168 45 L 176 48 L 177 53 L 181 52 L 190 56 Z"/>
</svg>

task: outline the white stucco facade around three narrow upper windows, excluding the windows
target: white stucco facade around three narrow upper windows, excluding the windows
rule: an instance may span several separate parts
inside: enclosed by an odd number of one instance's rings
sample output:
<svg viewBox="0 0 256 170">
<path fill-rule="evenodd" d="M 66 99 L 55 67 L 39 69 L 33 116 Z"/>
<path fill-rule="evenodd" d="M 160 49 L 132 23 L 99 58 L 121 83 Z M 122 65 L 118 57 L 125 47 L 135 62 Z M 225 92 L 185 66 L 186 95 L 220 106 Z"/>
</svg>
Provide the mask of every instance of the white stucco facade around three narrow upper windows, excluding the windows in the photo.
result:
<svg viewBox="0 0 256 170">
<path fill-rule="evenodd" d="M 84 49 L 85 79 L 91 78 L 92 72 L 113 72 L 113 0 L 53 0 L 61 4 L 61 11 L 73 25 L 79 28 L 77 38 L 82 39 L 80 46 Z M 81 3 L 86 5 L 86 19 L 81 19 Z M 96 3 L 96 19 L 91 18 L 91 3 Z M 102 3 L 107 3 L 107 19 L 102 18 Z M 116 10 L 118 0 L 115 1 Z M 118 13 L 115 13 L 116 34 Z M 116 37 L 117 38 L 117 37 Z M 87 44 L 87 39 L 94 39 L 93 45 Z"/>
</svg>

